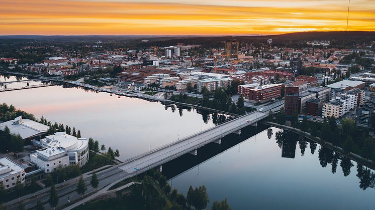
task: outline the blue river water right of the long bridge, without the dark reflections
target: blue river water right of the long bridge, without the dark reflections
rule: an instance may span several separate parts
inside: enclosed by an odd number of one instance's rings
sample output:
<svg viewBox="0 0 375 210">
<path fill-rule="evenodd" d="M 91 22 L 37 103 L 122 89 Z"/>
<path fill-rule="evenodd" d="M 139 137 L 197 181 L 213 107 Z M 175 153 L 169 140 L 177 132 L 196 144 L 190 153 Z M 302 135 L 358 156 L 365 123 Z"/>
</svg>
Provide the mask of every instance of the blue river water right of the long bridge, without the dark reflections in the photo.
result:
<svg viewBox="0 0 375 210">
<path fill-rule="evenodd" d="M 369 181 L 360 188 L 355 162 L 339 157 L 337 168 L 333 170 L 332 162 L 335 162 L 335 158 L 332 157 L 338 155 L 332 150 L 317 145 L 312 154 L 310 143 L 302 140 L 302 148 L 306 145 L 302 155 L 300 143 L 296 141 L 298 136 L 293 137 L 294 140 L 290 136 L 286 137 L 284 148 L 280 148 L 275 139 L 275 132 L 279 129 L 271 129 L 273 135 L 270 139 L 267 130 L 249 138 L 245 133 L 241 134 L 246 139 L 243 142 L 172 178 L 172 188 L 186 195 L 190 185 L 205 185 L 211 200 L 208 207 L 213 201 L 227 197 L 232 209 L 375 208 L 375 190 L 368 187 Z M 235 135 L 227 136 L 223 142 L 235 138 Z M 218 145 L 212 147 L 220 150 Z M 188 158 L 180 160 L 179 164 L 188 162 Z M 194 157 L 190 159 L 194 161 Z M 373 184 L 374 171 L 367 172 L 372 173 Z M 363 174 L 358 176 L 366 183 L 370 178 L 366 179 Z"/>
</svg>

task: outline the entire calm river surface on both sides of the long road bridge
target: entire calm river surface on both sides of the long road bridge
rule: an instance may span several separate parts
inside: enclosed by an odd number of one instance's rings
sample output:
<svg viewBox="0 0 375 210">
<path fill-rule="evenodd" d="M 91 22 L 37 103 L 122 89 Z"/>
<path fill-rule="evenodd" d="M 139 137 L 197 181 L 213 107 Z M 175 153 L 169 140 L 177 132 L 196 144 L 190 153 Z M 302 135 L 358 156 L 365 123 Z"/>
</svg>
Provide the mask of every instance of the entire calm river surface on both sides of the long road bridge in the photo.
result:
<svg viewBox="0 0 375 210">
<path fill-rule="evenodd" d="M 214 126 L 216 119 L 194 109 L 173 112 L 158 102 L 61 86 L 3 92 L 3 102 L 75 126 L 82 137 L 118 148 L 121 159 L 149 150 L 150 142 L 154 148 Z M 241 135 L 230 134 L 220 145 L 200 148 L 197 156 L 186 154 L 166 163 L 163 173 L 184 194 L 190 185 L 206 185 L 208 207 L 227 197 L 232 209 L 374 208 L 372 170 L 297 135 L 280 132 L 276 138 L 279 129 L 271 128 L 271 135 L 266 128 L 249 126 Z"/>
</svg>

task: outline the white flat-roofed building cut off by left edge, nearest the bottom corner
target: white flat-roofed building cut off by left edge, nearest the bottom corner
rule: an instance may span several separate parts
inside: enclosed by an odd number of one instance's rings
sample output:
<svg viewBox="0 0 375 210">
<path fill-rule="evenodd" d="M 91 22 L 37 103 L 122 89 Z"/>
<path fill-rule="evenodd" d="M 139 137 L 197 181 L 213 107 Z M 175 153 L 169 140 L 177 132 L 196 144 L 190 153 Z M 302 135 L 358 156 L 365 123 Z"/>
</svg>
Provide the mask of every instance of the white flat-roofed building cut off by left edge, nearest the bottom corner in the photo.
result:
<svg viewBox="0 0 375 210">
<path fill-rule="evenodd" d="M 0 184 L 2 183 L 5 189 L 10 189 L 16 186 L 17 181 L 20 181 L 21 184 L 25 183 L 24 168 L 7 157 L 1 158 Z"/>
</svg>

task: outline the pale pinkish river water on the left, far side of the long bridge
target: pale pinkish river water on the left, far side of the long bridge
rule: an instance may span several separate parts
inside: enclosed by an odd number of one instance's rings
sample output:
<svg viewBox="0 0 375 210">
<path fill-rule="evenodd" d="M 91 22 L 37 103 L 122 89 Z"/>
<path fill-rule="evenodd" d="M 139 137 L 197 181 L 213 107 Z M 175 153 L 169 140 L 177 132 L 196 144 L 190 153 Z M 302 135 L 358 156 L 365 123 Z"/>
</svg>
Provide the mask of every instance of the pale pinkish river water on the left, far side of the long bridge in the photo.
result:
<svg viewBox="0 0 375 210">
<path fill-rule="evenodd" d="M 4 77 L 2 77 L 4 80 Z M 15 80 L 11 77 L 7 81 Z M 0 93 L 0 103 L 42 115 L 51 122 L 73 126 L 82 137 L 92 137 L 120 150 L 120 158 L 137 154 L 214 126 L 196 110 L 167 107 L 159 102 L 51 86 Z M 182 117 L 180 116 L 182 115 Z"/>
</svg>

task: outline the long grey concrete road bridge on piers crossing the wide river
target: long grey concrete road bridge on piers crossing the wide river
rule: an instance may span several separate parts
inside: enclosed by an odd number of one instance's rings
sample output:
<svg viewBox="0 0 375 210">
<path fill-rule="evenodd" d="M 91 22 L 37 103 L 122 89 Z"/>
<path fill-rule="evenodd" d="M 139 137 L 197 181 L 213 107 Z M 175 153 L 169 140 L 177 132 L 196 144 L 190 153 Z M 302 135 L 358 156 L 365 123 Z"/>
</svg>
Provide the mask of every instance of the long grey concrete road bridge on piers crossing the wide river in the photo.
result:
<svg viewBox="0 0 375 210">
<path fill-rule="evenodd" d="M 241 128 L 249 125 L 256 126 L 259 120 L 268 116 L 269 110 L 276 112 L 284 106 L 284 101 L 278 101 L 266 107 L 261 111 L 255 111 L 241 117 L 232 119 L 218 126 L 208 128 L 202 132 L 186 136 L 177 141 L 155 148 L 149 152 L 137 155 L 125 160 L 118 167 L 133 176 L 145 172 L 151 168 L 161 166 L 170 160 L 173 160 L 183 154 L 191 153 L 197 155 L 197 149 L 211 142 L 220 143 L 221 138 L 230 134 L 240 134 Z"/>
</svg>

